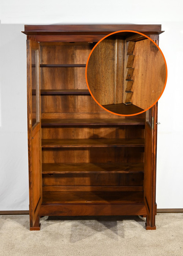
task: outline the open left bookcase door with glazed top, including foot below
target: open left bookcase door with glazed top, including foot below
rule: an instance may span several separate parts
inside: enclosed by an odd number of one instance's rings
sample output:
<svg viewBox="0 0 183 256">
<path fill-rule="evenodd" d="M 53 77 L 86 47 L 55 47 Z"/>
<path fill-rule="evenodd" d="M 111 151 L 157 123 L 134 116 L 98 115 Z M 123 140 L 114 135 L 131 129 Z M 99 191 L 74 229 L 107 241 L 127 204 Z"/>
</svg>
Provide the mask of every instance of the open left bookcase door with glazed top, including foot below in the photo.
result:
<svg viewBox="0 0 183 256">
<path fill-rule="evenodd" d="M 38 57 L 32 58 L 33 51 Z M 32 72 L 32 62 L 38 67 L 35 77 Z M 37 62 L 37 63 L 36 63 Z M 37 42 L 27 40 L 27 131 L 28 131 L 28 157 L 29 157 L 29 211 L 30 230 L 39 230 L 39 217 L 37 216 L 42 203 L 42 162 L 41 162 L 41 102 L 40 102 L 40 46 Z M 34 82 L 33 80 L 34 79 Z M 36 98 L 32 100 L 32 85 L 37 90 Z M 36 106 L 35 106 L 36 105 Z M 34 109 L 36 109 L 33 123 Z"/>
</svg>

